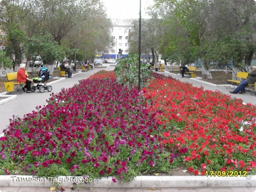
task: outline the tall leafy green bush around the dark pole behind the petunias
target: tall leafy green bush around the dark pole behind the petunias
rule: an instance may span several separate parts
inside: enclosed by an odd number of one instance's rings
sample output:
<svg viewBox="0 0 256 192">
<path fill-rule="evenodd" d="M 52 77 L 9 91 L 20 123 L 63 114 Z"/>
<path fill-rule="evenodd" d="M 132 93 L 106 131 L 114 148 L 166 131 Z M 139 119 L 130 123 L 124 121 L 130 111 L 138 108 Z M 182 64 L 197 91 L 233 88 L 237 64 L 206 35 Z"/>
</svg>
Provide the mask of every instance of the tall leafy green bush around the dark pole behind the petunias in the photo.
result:
<svg viewBox="0 0 256 192">
<path fill-rule="evenodd" d="M 150 77 L 150 71 L 146 64 L 141 64 L 141 85 L 144 86 Z M 138 86 L 138 57 L 136 55 L 128 55 L 126 58 L 120 59 L 115 67 L 117 82 L 128 86 Z"/>
</svg>

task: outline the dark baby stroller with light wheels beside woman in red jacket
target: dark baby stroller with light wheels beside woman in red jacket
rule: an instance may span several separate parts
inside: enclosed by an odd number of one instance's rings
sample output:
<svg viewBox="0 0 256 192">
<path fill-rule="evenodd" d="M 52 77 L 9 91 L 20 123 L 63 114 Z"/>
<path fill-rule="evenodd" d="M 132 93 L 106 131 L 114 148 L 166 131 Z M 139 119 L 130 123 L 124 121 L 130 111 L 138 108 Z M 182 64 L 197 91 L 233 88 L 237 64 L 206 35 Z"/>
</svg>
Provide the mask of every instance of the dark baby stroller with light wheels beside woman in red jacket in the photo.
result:
<svg viewBox="0 0 256 192">
<path fill-rule="evenodd" d="M 46 85 L 47 81 L 51 78 L 51 75 L 46 67 L 42 67 L 39 71 L 38 77 L 33 78 L 34 85 L 31 87 L 31 91 L 35 92 L 36 89 L 40 93 L 43 93 L 44 90 L 51 92 L 53 90 L 52 86 Z"/>
</svg>

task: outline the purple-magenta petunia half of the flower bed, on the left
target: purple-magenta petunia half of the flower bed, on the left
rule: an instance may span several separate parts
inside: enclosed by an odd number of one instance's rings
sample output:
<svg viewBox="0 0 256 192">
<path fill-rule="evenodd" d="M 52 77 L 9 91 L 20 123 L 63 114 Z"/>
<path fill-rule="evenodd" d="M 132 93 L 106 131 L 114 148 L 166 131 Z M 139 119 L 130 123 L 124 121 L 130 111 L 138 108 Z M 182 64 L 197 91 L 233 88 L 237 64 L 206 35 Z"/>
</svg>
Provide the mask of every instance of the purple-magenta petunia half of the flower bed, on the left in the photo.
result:
<svg viewBox="0 0 256 192">
<path fill-rule="evenodd" d="M 114 72 L 101 71 L 14 119 L 0 138 L 0 174 L 112 176 L 116 182 L 168 172 L 163 126 L 137 89 L 115 81 Z"/>
</svg>

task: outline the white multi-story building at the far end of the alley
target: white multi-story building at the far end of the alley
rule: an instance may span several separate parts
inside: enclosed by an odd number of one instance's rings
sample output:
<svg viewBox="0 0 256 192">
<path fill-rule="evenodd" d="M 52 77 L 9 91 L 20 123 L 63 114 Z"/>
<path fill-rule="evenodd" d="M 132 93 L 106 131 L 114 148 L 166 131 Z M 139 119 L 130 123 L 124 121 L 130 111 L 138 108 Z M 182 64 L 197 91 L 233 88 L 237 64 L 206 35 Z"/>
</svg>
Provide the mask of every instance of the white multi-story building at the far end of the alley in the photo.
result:
<svg viewBox="0 0 256 192">
<path fill-rule="evenodd" d="M 118 59 L 119 49 L 123 50 L 123 57 L 128 54 L 129 32 L 132 28 L 132 19 L 112 19 L 112 38 L 113 46 L 104 54 L 105 58 Z"/>
</svg>

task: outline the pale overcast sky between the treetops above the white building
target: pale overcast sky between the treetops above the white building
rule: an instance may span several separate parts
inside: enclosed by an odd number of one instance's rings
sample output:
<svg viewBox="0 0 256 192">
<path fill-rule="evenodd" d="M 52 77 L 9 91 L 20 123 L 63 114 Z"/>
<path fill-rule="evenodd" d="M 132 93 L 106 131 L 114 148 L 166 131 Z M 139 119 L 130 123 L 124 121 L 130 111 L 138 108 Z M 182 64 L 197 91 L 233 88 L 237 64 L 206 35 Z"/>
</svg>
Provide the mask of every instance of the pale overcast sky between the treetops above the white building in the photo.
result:
<svg viewBox="0 0 256 192">
<path fill-rule="evenodd" d="M 139 0 L 102 0 L 107 16 L 111 19 L 138 19 Z M 154 0 L 141 0 L 141 17 L 148 18 L 146 8 L 152 5 Z"/>
</svg>

